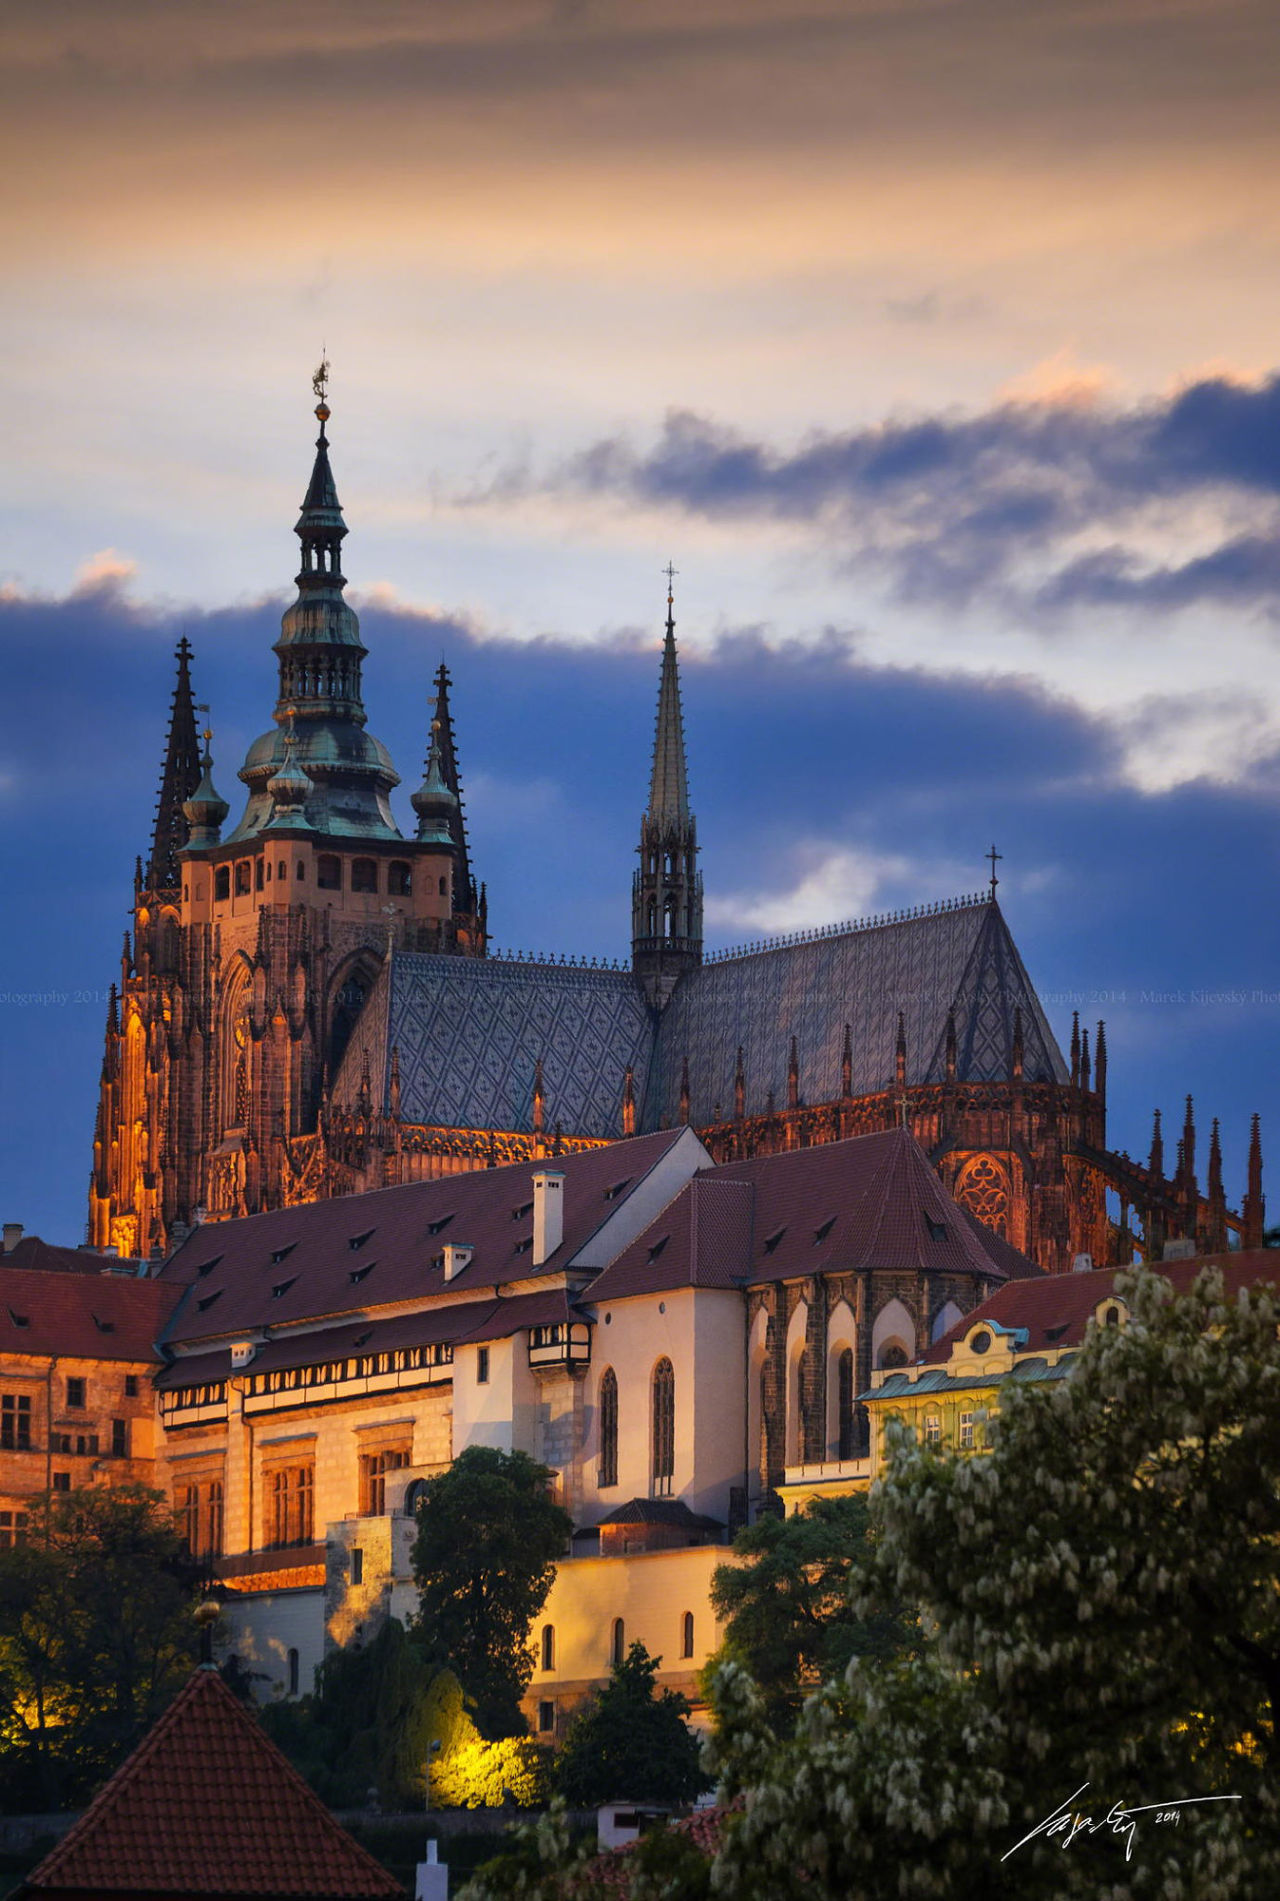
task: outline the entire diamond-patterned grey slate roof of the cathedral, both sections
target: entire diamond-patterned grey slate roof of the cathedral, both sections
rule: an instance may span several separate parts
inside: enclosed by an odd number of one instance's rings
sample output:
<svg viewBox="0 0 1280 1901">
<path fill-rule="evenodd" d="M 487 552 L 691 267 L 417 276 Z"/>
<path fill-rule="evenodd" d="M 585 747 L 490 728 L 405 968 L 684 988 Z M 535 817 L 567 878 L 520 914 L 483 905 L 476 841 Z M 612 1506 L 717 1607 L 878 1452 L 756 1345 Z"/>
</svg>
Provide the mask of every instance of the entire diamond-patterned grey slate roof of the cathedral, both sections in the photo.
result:
<svg viewBox="0 0 1280 1901">
<path fill-rule="evenodd" d="M 835 1101 L 846 1023 L 852 1093 L 892 1087 L 898 1011 L 907 1082 L 941 1082 L 949 1009 L 959 1082 L 1010 1074 L 1018 1009 L 1027 1082 L 1069 1080 L 989 899 L 708 962 L 681 977 L 660 1019 L 628 970 L 398 952 L 361 1011 L 335 1103 L 354 1103 L 367 1055 L 373 1106 L 382 1108 L 398 1047 L 405 1122 L 527 1131 L 542 1061 L 546 1129 L 618 1137 L 628 1065 L 639 1127 L 669 1129 L 688 1059 L 690 1122 L 706 1127 L 717 1104 L 732 1114 L 738 1047 L 746 1114 L 765 1114 L 770 1091 L 785 1106 L 793 1036 L 801 1101 Z"/>
</svg>

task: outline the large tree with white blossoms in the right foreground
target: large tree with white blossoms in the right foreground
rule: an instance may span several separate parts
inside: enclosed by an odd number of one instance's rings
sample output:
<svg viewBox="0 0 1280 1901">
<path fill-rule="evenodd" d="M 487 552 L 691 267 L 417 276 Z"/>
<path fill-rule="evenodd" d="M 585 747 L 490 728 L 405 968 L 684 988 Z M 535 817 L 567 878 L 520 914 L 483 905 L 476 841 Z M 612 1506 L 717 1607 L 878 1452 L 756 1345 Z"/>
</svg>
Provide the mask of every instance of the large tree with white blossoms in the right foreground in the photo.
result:
<svg viewBox="0 0 1280 1901">
<path fill-rule="evenodd" d="M 717 1768 L 749 1802 L 717 1893 L 1280 1893 L 1280 1302 L 1215 1272 L 1118 1291 L 1128 1325 L 1002 1395 L 991 1452 L 890 1428 L 856 1608 L 919 1603 L 924 1656 L 854 1661 L 789 1741 L 721 1673 Z M 1099 1827 L 1048 1836 L 1059 1812 Z"/>
</svg>

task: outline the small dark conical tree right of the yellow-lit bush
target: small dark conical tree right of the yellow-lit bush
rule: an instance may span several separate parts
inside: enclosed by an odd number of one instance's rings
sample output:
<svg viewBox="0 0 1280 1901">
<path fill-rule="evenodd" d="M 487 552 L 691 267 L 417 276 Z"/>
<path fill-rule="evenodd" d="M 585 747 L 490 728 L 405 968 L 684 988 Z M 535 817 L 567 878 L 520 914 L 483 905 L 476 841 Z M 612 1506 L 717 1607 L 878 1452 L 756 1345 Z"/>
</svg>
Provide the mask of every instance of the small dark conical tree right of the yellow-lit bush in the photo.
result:
<svg viewBox="0 0 1280 1901">
<path fill-rule="evenodd" d="M 660 1663 L 633 1642 L 572 1719 L 555 1758 L 567 1802 L 688 1802 L 706 1787 L 688 1703 L 677 1690 L 656 1690 Z"/>
</svg>

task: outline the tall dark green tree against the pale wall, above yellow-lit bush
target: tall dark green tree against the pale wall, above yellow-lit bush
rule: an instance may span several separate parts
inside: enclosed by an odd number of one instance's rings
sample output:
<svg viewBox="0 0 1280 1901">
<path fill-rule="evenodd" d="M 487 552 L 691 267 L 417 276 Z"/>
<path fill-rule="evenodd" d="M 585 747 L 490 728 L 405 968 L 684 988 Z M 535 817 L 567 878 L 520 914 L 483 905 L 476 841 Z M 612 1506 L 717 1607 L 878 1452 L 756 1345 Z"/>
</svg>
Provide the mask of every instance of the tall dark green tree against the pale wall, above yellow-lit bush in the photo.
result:
<svg viewBox="0 0 1280 1901">
<path fill-rule="evenodd" d="M 527 1452 L 468 1447 L 422 1487 L 415 1635 L 456 1673 L 489 1739 L 525 1730 L 519 1699 L 533 1675 L 529 1625 L 572 1532 L 550 1481 L 550 1469 Z"/>
</svg>

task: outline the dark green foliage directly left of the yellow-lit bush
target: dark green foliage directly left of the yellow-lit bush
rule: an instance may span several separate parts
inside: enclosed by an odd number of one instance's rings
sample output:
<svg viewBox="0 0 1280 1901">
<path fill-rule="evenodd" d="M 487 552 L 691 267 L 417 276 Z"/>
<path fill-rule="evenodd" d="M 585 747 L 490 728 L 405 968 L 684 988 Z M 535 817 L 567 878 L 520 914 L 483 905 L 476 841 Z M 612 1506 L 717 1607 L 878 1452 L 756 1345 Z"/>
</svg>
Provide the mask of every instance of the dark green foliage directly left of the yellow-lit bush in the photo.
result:
<svg viewBox="0 0 1280 1901">
<path fill-rule="evenodd" d="M 432 1677 L 403 1623 L 388 1618 L 371 1644 L 325 1660 L 314 1696 L 268 1703 L 262 1724 L 331 1808 L 359 1808 L 371 1789 L 382 1808 L 418 1808 Z"/>
</svg>

